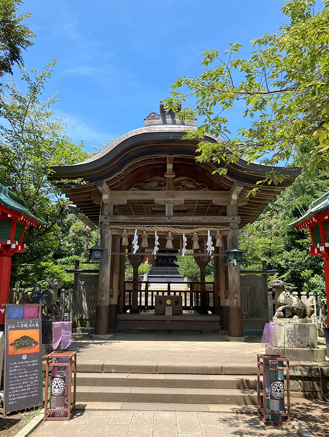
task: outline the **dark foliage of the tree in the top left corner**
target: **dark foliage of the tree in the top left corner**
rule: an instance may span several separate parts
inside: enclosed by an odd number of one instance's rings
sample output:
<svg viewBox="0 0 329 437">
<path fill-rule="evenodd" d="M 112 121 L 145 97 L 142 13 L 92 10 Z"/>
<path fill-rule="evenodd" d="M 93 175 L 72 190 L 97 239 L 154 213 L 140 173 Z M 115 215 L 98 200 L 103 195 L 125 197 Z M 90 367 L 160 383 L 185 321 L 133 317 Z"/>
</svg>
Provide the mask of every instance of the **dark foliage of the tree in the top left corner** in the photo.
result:
<svg viewBox="0 0 329 437">
<path fill-rule="evenodd" d="M 12 66 L 23 64 L 22 50 L 33 45 L 35 34 L 23 21 L 30 13 L 16 16 L 22 0 L 0 0 L 0 77 L 12 75 Z"/>
</svg>

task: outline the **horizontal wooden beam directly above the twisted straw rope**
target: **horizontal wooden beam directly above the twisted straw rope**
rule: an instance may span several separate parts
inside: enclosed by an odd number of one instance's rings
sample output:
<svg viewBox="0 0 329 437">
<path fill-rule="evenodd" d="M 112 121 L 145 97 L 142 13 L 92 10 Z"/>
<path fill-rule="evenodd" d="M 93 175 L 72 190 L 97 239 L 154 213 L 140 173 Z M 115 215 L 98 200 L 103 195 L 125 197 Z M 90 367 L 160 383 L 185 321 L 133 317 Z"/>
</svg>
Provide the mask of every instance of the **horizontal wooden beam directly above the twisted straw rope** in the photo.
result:
<svg viewBox="0 0 329 437">
<path fill-rule="evenodd" d="M 227 216 L 227 215 L 209 215 L 208 217 L 205 216 L 197 216 L 197 215 L 174 215 L 171 216 L 159 216 L 159 215 L 101 215 L 101 223 L 117 223 L 117 224 L 159 224 L 159 223 L 166 223 L 166 224 L 186 224 L 186 225 L 196 225 L 196 226 L 202 226 L 203 224 L 209 224 L 212 223 L 214 225 L 228 225 L 231 223 L 236 222 L 237 224 L 240 223 L 240 217 L 234 216 Z"/>
</svg>

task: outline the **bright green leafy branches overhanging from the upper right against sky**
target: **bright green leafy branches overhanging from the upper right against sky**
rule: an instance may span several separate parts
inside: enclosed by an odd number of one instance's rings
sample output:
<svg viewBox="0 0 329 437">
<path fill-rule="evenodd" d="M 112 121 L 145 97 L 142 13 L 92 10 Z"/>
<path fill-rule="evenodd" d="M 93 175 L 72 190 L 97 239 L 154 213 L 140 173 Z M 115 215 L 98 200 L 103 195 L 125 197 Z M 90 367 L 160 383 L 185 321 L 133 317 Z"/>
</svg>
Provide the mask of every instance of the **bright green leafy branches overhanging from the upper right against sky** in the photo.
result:
<svg viewBox="0 0 329 437">
<path fill-rule="evenodd" d="M 241 45 L 230 43 L 224 56 L 219 50 L 204 53 L 205 71 L 198 77 L 177 79 L 165 103 L 175 111 L 188 97 L 183 119 L 203 121 L 186 138 L 198 138 L 201 161 L 236 162 L 245 158 L 265 165 L 291 162 L 294 149 L 305 142 L 309 169 L 325 168 L 329 156 L 329 0 L 290 0 L 283 8 L 287 20 L 278 33 L 251 42 L 249 59 L 239 57 Z M 241 80 L 241 77 L 243 79 Z M 182 87 L 182 91 L 179 88 Z M 243 108 L 247 127 L 230 139 L 226 112 Z M 204 139 L 211 134 L 220 146 Z M 224 145 L 224 147 L 223 147 Z M 218 172 L 226 172 L 222 166 Z M 270 183 L 282 175 L 267 174 Z"/>
</svg>

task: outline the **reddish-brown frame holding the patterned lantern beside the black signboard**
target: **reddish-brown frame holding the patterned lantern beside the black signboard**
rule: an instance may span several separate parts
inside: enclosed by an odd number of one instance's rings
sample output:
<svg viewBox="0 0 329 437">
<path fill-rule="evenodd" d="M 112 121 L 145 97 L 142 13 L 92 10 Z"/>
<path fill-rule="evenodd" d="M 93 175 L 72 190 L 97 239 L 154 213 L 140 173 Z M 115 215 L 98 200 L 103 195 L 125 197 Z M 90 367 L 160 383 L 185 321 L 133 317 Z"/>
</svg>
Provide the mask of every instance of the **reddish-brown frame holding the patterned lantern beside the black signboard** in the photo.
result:
<svg viewBox="0 0 329 437">
<path fill-rule="evenodd" d="M 67 358 L 68 362 L 52 362 L 53 358 Z M 49 368 L 54 366 L 62 367 L 69 366 L 68 373 L 68 403 L 67 408 L 50 408 L 50 399 L 48 407 L 48 387 L 49 387 Z M 72 373 L 73 378 L 73 400 L 71 400 L 71 386 L 72 386 Z M 76 410 L 76 391 L 77 391 L 77 352 L 51 352 L 46 356 L 46 391 L 45 391 L 45 415 L 44 421 L 69 421 L 72 413 Z M 50 393 L 51 394 L 51 393 Z M 51 417 L 51 413 L 67 412 L 66 417 Z"/>
</svg>

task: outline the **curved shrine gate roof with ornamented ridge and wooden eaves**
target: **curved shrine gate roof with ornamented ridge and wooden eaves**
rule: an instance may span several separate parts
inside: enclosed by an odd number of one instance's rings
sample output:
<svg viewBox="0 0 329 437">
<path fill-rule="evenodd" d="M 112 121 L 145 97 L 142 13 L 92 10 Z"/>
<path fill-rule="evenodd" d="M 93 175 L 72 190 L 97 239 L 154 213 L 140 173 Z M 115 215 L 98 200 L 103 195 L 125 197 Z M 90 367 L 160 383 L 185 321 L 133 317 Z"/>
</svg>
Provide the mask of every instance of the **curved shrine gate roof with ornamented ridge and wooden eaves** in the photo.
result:
<svg viewBox="0 0 329 437">
<path fill-rule="evenodd" d="M 144 120 L 143 128 L 122 135 L 86 161 L 71 166 L 54 167 L 51 178 L 59 181 L 80 178 L 85 182 L 85 185 L 75 187 L 68 184 L 62 186 L 64 193 L 76 205 L 84 219 L 87 217 L 87 221 L 83 221 L 88 224 L 98 224 L 101 203 L 101 193 L 96 185 L 98 181 L 105 181 L 111 193 L 139 191 L 138 200 L 134 196 L 136 201 L 130 199 L 126 204 L 119 205 L 117 202 L 114 205 L 113 214 L 123 216 L 165 214 L 163 206 L 156 205 L 149 194 L 152 190 L 166 191 L 168 169 L 174 172 L 173 190 L 194 193 L 200 190 L 197 199 L 195 195 L 187 196 L 189 200 L 184 205 L 174 207 L 174 215 L 226 215 L 224 204 L 217 202 L 215 205 L 211 196 L 209 197 L 210 192 L 215 191 L 214 195 L 230 193 L 233 185 L 239 183 L 243 188 L 239 190 L 238 215 L 241 216 L 240 226 L 244 226 L 257 219 L 272 199 L 291 185 L 300 173 L 299 169 L 267 167 L 257 163 L 248 165 L 245 160 L 240 159 L 226 165 L 227 174 L 218 175 L 214 172 L 223 167 L 223 163 L 215 165 L 212 162 L 197 162 L 197 140 L 182 139 L 186 131 L 195 129 L 195 126 L 196 120 L 183 124 L 172 112 L 167 114 L 160 104 L 160 114 L 151 113 Z M 206 139 L 212 143 L 219 142 L 211 136 Z M 278 186 L 271 184 L 260 187 L 257 182 L 270 171 L 288 177 Z M 255 187 L 259 188 L 255 196 L 246 197 L 246 193 Z M 143 196 L 145 189 L 147 198 Z M 191 200 L 192 197 L 194 200 Z"/>
</svg>

